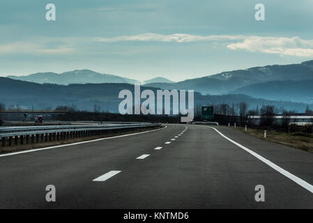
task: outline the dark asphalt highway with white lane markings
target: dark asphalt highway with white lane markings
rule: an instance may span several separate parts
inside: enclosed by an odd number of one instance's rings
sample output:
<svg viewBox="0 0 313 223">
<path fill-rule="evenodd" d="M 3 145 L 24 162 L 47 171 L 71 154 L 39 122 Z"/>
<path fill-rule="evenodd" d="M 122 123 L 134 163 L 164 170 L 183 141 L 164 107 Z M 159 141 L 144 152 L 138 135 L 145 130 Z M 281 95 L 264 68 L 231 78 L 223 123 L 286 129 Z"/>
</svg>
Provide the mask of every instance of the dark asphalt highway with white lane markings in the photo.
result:
<svg viewBox="0 0 313 223">
<path fill-rule="evenodd" d="M 312 185 L 313 153 L 222 126 L 0 155 L 0 208 L 313 208 Z"/>
</svg>

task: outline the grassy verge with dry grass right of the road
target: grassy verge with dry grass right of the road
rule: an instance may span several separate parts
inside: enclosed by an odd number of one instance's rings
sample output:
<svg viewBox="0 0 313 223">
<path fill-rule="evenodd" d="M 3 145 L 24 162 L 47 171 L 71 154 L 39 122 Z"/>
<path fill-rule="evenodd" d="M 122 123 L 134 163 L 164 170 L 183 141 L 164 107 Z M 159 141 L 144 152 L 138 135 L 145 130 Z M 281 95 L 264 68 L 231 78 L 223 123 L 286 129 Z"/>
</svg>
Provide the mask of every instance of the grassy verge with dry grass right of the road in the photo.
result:
<svg viewBox="0 0 313 223">
<path fill-rule="evenodd" d="M 250 134 L 252 137 L 264 139 L 264 130 L 255 128 L 248 128 L 247 132 L 245 132 L 245 128 L 238 128 L 238 130 Z M 313 134 L 302 132 L 287 134 L 276 132 L 274 130 L 267 130 L 265 140 L 313 153 Z"/>
</svg>

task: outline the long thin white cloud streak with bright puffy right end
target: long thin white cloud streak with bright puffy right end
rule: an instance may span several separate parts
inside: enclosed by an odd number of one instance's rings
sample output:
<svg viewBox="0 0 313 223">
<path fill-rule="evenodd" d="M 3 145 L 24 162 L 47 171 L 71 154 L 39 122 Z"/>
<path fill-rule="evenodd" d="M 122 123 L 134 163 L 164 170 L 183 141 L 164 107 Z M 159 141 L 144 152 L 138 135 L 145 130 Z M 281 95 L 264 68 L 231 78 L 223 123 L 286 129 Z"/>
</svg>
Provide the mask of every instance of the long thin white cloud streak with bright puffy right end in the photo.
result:
<svg viewBox="0 0 313 223">
<path fill-rule="evenodd" d="M 98 42 L 115 43 L 120 41 L 154 41 L 154 42 L 176 42 L 190 43 L 198 41 L 234 42 L 230 43 L 229 49 L 245 49 L 250 52 L 263 52 L 267 54 L 280 54 L 288 56 L 313 56 L 313 40 L 303 40 L 298 36 L 287 37 L 262 37 L 262 36 L 196 36 L 184 33 L 162 35 L 158 33 L 144 33 L 134 36 L 117 36 L 113 38 L 96 38 Z"/>
</svg>

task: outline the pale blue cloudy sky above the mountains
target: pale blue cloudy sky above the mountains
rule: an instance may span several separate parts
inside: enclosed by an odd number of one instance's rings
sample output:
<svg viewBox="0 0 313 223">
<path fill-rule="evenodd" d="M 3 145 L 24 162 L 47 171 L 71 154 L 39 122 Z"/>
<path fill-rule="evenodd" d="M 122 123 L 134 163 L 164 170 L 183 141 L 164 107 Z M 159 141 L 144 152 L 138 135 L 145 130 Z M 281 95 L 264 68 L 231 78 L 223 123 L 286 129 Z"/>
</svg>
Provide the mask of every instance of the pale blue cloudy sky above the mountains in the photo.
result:
<svg viewBox="0 0 313 223">
<path fill-rule="evenodd" d="M 45 20 L 54 3 L 56 21 Z M 266 20 L 254 20 L 263 3 Z M 0 76 L 91 69 L 174 81 L 313 59 L 313 1 L 0 2 Z"/>
</svg>

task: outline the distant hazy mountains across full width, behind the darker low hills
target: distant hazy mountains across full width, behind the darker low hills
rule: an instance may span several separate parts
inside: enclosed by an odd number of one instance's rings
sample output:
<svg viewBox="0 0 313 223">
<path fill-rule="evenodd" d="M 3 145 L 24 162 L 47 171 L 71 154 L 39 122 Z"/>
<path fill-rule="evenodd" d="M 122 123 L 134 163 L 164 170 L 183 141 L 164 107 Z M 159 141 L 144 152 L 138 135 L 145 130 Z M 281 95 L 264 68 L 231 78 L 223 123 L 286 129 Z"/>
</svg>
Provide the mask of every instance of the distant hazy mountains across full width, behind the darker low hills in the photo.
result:
<svg viewBox="0 0 313 223">
<path fill-rule="evenodd" d="M 156 77 L 140 82 L 92 70 L 74 70 L 57 74 L 36 73 L 28 76 L 8 76 L 38 84 L 142 84 L 155 89 L 194 90 L 202 95 L 247 95 L 273 101 L 313 103 L 313 60 L 298 64 L 259 66 L 245 70 L 221 72 L 206 77 L 172 82 Z M 242 96 L 241 96 L 242 98 Z"/>
</svg>

